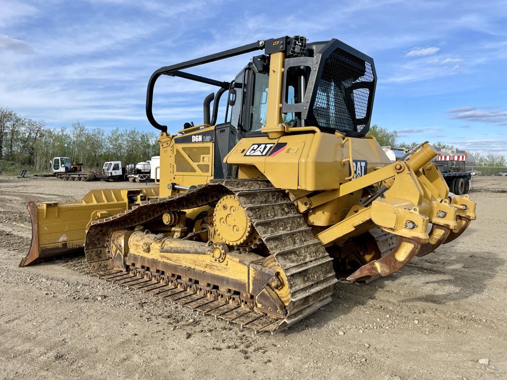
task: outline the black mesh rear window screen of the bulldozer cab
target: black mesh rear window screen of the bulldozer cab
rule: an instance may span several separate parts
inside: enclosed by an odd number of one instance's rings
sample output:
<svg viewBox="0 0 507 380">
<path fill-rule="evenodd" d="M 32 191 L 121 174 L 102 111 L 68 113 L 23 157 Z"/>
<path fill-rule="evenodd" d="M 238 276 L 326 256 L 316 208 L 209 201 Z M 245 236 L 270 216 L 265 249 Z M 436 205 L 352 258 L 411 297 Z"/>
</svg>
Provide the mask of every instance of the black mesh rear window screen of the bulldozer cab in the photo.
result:
<svg viewBox="0 0 507 380">
<path fill-rule="evenodd" d="M 336 49 L 325 59 L 313 115 L 320 127 L 361 132 L 369 119 L 374 75 L 369 62 Z"/>
</svg>

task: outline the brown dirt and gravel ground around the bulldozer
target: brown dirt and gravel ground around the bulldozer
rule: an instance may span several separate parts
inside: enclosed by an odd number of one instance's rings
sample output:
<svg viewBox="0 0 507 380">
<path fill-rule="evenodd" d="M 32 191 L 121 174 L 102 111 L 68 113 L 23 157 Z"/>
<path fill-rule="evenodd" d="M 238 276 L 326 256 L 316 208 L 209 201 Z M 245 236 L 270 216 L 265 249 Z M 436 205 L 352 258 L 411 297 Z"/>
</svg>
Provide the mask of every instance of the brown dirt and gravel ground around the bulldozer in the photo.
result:
<svg viewBox="0 0 507 380">
<path fill-rule="evenodd" d="M 467 234 L 369 285 L 338 283 L 330 305 L 272 336 L 65 260 L 18 268 L 28 200 L 128 185 L 0 179 L 1 379 L 507 378 L 507 194 L 481 191 L 487 178 L 474 182 Z"/>
</svg>

